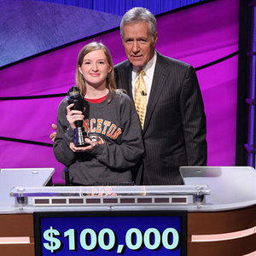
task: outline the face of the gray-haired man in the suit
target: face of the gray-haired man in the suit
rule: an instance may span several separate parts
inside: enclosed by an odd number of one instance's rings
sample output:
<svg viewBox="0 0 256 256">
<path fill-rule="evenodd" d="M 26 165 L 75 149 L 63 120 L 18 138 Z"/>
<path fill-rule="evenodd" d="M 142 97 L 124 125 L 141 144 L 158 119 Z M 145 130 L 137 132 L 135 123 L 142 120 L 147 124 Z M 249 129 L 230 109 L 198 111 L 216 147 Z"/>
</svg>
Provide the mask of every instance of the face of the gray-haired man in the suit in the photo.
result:
<svg viewBox="0 0 256 256">
<path fill-rule="evenodd" d="M 157 37 L 152 38 L 147 21 L 126 23 L 123 27 L 125 54 L 133 66 L 143 67 L 154 55 Z"/>
</svg>

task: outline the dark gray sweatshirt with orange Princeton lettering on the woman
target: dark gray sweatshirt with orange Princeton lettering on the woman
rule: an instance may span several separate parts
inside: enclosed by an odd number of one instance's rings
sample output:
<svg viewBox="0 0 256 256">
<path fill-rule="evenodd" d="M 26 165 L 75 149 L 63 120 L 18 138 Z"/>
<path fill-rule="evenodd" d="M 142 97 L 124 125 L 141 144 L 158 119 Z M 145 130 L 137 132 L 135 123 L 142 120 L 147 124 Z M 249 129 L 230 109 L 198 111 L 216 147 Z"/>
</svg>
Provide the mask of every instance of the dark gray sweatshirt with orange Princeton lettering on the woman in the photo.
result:
<svg viewBox="0 0 256 256">
<path fill-rule="evenodd" d="M 123 92 L 110 94 L 101 103 L 89 103 L 84 112 L 88 136 L 100 142 L 90 153 L 75 153 L 69 148 L 73 129 L 67 121 L 67 100 L 61 101 L 57 114 L 55 158 L 68 166 L 73 183 L 119 183 L 131 181 L 131 167 L 143 154 L 142 131 L 136 109 Z"/>
</svg>

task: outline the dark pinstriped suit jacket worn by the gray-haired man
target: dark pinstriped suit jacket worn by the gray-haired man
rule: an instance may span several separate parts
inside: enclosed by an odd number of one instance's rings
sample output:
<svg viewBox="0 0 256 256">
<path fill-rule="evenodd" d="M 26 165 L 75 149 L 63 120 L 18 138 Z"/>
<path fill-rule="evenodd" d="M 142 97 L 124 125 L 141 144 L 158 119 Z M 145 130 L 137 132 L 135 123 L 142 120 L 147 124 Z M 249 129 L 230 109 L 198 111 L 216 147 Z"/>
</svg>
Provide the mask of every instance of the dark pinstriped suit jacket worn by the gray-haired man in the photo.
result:
<svg viewBox="0 0 256 256">
<path fill-rule="evenodd" d="M 114 67 L 118 88 L 132 98 L 132 66 Z M 206 166 L 206 116 L 195 70 L 157 53 L 154 78 L 143 126 L 145 155 L 137 184 L 182 184 L 179 166 Z"/>
</svg>

